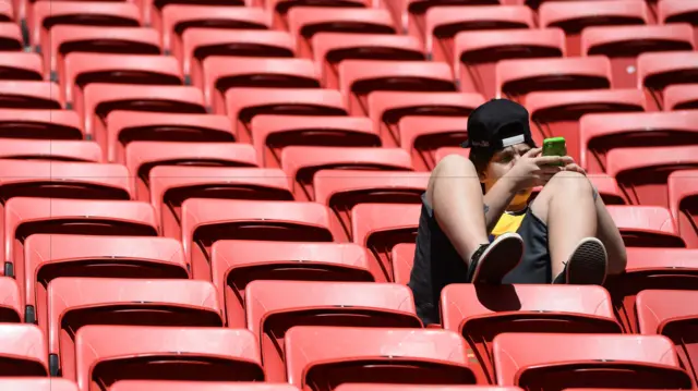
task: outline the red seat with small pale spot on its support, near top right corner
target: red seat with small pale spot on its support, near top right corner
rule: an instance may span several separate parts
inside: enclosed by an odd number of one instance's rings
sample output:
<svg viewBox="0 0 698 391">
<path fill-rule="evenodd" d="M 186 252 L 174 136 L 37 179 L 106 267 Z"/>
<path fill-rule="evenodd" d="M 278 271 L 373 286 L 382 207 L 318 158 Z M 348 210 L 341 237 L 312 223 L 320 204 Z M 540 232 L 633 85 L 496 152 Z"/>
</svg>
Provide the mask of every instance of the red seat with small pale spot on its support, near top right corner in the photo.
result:
<svg viewBox="0 0 698 391">
<path fill-rule="evenodd" d="M 611 59 L 614 88 L 637 88 L 637 60 L 641 53 L 654 51 L 690 51 L 693 29 L 688 24 L 664 26 L 601 26 L 581 33 L 585 56 Z"/>
</svg>

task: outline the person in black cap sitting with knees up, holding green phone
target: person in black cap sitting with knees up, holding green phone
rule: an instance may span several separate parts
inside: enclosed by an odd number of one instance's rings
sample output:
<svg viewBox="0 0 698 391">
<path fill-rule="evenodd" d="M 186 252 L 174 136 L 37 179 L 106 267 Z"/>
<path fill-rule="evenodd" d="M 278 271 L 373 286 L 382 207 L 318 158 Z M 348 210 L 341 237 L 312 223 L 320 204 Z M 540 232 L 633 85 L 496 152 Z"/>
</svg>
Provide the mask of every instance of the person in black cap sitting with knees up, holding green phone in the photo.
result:
<svg viewBox="0 0 698 391">
<path fill-rule="evenodd" d="M 585 170 L 568 156 L 541 156 L 526 108 L 483 103 L 462 146 L 469 159 L 443 158 L 422 195 L 408 285 L 425 325 L 440 322 L 450 283 L 603 284 L 625 270 L 621 233 Z"/>
</svg>

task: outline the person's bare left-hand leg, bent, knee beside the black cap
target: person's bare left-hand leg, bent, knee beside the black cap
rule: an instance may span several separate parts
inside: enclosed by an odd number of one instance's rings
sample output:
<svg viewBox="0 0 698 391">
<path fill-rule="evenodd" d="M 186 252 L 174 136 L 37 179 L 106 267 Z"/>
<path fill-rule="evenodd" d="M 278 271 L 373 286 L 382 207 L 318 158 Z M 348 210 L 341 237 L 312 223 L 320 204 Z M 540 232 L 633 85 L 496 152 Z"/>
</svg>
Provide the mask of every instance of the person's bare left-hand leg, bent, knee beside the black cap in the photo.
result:
<svg viewBox="0 0 698 391">
<path fill-rule="evenodd" d="M 482 187 L 470 160 L 458 155 L 445 157 L 432 171 L 426 200 L 462 259 L 470 259 L 480 245 L 490 242 Z"/>
</svg>

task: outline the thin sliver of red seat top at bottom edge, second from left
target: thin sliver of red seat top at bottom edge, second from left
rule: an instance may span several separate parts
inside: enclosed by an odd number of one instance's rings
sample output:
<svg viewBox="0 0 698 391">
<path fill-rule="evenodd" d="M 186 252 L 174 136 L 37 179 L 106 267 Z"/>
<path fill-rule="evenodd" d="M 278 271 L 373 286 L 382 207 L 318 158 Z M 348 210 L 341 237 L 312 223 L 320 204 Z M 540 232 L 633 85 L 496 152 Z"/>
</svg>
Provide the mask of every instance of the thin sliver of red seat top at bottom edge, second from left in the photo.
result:
<svg viewBox="0 0 698 391">
<path fill-rule="evenodd" d="M 110 391 L 299 391 L 287 383 L 245 381 L 120 380 Z M 15 390 L 12 390 L 15 391 Z M 45 391 L 45 390 L 39 390 Z M 46 390 L 49 391 L 49 390 Z M 57 390 L 63 391 L 63 390 Z M 428 390 L 429 391 L 429 390 Z M 466 390 L 445 390 L 466 391 Z M 490 390 L 485 390 L 490 391 Z M 492 390 L 497 391 L 497 390 Z"/>
</svg>

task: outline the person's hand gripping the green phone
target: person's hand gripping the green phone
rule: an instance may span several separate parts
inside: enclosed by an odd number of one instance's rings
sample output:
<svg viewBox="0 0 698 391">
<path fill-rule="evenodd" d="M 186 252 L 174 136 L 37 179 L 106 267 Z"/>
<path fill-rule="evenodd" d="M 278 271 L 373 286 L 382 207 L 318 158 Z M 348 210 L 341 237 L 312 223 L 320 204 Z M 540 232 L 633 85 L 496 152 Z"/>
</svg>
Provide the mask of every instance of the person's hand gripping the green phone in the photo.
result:
<svg viewBox="0 0 698 391">
<path fill-rule="evenodd" d="M 553 175 L 575 164 L 568 156 L 540 156 L 541 151 L 542 148 L 532 148 L 524 154 L 504 175 L 517 192 L 544 186 Z"/>
</svg>

